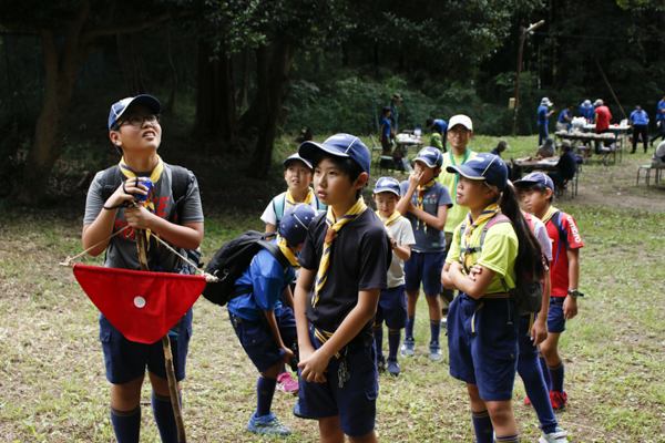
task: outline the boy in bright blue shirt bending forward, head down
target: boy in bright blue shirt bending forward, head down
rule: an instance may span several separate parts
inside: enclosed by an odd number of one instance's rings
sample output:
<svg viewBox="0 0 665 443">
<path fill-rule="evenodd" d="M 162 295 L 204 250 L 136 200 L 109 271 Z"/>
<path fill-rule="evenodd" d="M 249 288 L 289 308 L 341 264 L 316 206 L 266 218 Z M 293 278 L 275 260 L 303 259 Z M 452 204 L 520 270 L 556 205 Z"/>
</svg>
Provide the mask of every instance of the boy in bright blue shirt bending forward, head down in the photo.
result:
<svg viewBox="0 0 665 443">
<path fill-rule="evenodd" d="M 286 209 L 279 223 L 279 235 L 273 241 L 288 259 L 288 269 L 285 271 L 268 250 L 260 250 L 234 285 L 234 291 L 246 289 L 245 293 L 228 302 L 228 317 L 236 336 L 260 372 L 256 384 L 256 412 L 247 423 L 247 430 L 256 434 L 287 436 L 291 433 L 270 411 L 277 377 L 284 363 L 295 357 L 290 347 L 296 341 L 296 322 L 291 309 L 282 305 L 282 295 L 288 290 L 295 270 L 300 267 L 296 254 L 303 249 L 315 216 L 316 210 L 305 204 Z"/>
</svg>

